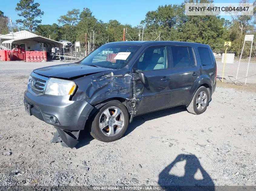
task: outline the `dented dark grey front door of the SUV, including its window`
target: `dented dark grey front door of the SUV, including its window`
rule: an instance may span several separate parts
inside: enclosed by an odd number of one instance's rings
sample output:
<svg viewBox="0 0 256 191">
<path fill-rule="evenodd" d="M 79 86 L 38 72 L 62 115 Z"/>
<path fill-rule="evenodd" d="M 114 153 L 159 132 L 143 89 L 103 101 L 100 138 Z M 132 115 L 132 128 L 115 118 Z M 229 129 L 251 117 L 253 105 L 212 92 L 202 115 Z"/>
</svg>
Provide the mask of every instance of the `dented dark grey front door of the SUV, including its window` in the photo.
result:
<svg viewBox="0 0 256 191">
<path fill-rule="evenodd" d="M 134 68 L 138 67 L 145 76 L 143 84 L 139 75 L 134 74 L 136 115 L 165 109 L 171 105 L 171 70 L 167 65 L 166 49 L 165 46 L 149 48 L 135 64 Z"/>
</svg>

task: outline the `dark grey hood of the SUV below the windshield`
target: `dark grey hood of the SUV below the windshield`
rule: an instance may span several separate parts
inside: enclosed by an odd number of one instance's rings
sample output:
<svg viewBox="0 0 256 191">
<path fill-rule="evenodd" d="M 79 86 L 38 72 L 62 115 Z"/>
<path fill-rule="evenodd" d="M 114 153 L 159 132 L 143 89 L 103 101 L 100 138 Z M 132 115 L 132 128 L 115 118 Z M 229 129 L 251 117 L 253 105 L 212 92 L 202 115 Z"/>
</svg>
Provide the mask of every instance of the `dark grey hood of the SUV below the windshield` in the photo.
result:
<svg viewBox="0 0 256 191">
<path fill-rule="evenodd" d="M 110 70 L 109 68 L 97 68 L 94 66 L 87 66 L 82 64 L 70 63 L 62 65 L 47 66 L 44 68 L 38 68 L 33 70 L 33 72 L 56 78 L 73 78 L 81 75 L 90 75 L 98 72 L 104 72 Z"/>
</svg>

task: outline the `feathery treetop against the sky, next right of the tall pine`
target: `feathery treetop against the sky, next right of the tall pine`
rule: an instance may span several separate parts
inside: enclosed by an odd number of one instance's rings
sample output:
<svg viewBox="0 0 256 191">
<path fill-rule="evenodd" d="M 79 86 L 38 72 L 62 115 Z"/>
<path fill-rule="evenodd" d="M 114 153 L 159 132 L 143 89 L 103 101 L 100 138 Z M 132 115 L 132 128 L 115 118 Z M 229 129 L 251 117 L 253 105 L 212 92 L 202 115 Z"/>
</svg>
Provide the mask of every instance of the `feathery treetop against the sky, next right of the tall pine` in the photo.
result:
<svg viewBox="0 0 256 191">
<path fill-rule="evenodd" d="M 61 24 L 68 24 L 68 25 L 76 25 L 79 20 L 79 9 L 72 9 L 71 11 L 68 11 L 67 14 L 60 16 L 60 19 L 58 19 L 58 22 Z"/>
</svg>

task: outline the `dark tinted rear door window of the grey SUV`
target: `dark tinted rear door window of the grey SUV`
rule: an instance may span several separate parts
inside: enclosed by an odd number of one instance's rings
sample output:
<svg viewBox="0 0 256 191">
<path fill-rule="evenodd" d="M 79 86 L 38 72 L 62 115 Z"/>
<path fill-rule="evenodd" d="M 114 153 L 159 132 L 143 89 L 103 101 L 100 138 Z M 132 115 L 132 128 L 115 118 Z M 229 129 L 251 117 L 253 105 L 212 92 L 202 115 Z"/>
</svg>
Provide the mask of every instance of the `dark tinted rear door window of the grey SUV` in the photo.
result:
<svg viewBox="0 0 256 191">
<path fill-rule="evenodd" d="M 173 68 L 194 66 L 194 54 L 190 47 L 171 46 Z"/>
</svg>

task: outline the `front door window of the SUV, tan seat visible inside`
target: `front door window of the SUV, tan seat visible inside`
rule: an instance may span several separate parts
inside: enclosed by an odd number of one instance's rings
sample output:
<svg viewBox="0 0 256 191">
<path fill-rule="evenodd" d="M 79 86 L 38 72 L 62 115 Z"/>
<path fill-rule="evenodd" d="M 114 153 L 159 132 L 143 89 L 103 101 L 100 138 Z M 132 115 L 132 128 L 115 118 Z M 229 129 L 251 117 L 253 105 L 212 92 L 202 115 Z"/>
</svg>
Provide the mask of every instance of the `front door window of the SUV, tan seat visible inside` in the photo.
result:
<svg viewBox="0 0 256 191">
<path fill-rule="evenodd" d="M 142 71 L 166 69 L 166 47 L 147 49 L 138 60 L 138 69 Z"/>
</svg>

